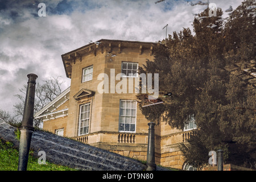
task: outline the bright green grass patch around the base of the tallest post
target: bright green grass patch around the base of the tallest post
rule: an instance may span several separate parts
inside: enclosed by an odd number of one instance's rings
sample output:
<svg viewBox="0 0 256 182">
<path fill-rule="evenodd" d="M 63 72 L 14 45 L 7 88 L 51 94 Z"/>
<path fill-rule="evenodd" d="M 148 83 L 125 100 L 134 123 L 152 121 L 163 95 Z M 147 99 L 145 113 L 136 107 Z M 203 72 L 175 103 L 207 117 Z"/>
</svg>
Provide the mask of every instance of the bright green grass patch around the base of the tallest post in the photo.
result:
<svg viewBox="0 0 256 182">
<path fill-rule="evenodd" d="M 19 151 L 14 144 L 0 138 L 0 171 L 17 171 Z M 46 161 L 46 164 L 38 164 L 38 159 L 30 151 L 27 171 L 77 171 L 76 169 Z"/>
</svg>

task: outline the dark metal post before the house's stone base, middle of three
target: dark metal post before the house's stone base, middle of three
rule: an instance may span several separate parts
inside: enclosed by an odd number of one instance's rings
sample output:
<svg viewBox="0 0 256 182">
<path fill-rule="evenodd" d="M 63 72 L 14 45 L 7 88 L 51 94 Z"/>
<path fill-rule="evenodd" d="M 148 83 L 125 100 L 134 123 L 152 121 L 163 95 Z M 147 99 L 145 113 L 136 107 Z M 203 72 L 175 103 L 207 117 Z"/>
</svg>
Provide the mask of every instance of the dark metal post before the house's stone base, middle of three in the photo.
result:
<svg viewBox="0 0 256 182">
<path fill-rule="evenodd" d="M 148 127 L 148 144 L 147 144 L 147 168 L 146 171 L 155 171 L 155 123 L 150 122 Z"/>
</svg>

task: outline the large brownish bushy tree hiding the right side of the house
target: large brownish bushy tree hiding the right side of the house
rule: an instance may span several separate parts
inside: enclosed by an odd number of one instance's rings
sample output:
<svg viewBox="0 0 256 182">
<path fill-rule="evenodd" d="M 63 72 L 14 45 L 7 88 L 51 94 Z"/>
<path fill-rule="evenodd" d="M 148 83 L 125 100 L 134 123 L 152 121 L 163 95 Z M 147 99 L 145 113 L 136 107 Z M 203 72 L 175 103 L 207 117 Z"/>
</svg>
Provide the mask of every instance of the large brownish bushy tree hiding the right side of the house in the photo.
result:
<svg viewBox="0 0 256 182">
<path fill-rule="evenodd" d="M 180 144 L 184 159 L 194 167 L 207 164 L 209 151 L 219 149 L 226 163 L 255 160 L 255 88 L 225 70 L 255 59 L 253 3 L 243 2 L 226 23 L 221 9 L 212 17 L 204 10 L 193 21 L 195 35 L 189 28 L 174 32 L 166 44 L 156 46 L 154 60 L 139 68 L 139 73 L 159 73 L 159 98 L 164 101 L 141 107 L 148 120 L 183 129 L 189 115 L 195 115 L 196 134 Z"/>
</svg>

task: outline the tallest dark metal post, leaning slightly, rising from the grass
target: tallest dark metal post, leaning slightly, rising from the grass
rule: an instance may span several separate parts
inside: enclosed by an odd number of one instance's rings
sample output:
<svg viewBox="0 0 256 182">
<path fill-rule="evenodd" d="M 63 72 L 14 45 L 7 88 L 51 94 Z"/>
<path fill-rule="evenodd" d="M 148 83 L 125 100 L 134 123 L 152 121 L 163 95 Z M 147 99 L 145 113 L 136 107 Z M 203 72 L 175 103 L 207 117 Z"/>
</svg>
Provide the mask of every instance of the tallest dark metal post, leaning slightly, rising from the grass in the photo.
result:
<svg viewBox="0 0 256 182">
<path fill-rule="evenodd" d="M 30 151 L 30 143 L 32 133 L 34 133 L 33 119 L 34 119 L 34 102 L 35 102 L 35 84 L 37 75 L 31 73 L 27 75 L 27 93 L 23 111 L 22 125 L 20 130 L 19 142 L 19 163 L 18 171 L 27 170 L 28 153 Z"/>
</svg>

